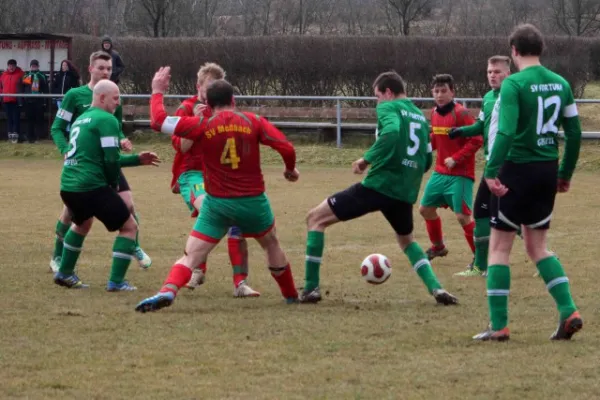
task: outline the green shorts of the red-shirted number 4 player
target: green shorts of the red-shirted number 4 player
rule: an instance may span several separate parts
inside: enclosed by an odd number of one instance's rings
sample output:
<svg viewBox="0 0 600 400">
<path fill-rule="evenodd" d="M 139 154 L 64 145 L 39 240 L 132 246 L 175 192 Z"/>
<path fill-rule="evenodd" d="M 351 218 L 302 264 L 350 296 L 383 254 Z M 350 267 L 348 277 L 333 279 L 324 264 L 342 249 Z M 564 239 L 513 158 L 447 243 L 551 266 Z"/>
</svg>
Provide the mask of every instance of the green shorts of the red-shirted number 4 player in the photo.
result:
<svg viewBox="0 0 600 400">
<path fill-rule="evenodd" d="M 218 243 L 231 226 L 239 227 L 244 237 L 262 237 L 271 231 L 274 224 L 271 204 L 264 193 L 227 199 L 207 194 L 191 235 Z"/>
</svg>

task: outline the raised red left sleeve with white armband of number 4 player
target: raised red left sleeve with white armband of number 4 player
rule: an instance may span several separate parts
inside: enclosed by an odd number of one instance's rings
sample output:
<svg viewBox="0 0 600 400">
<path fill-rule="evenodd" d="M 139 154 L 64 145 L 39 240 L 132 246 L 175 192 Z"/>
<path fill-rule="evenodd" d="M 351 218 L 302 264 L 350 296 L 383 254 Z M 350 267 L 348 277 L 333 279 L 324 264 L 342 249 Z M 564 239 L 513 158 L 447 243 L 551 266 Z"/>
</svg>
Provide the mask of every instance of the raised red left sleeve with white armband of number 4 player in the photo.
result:
<svg viewBox="0 0 600 400">
<path fill-rule="evenodd" d="M 175 135 L 192 141 L 204 136 L 208 118 L 169 117 L 163 104 L 163 94 L 154 93 L 150 99 L 150 126 L 158 132 Z"/>
</svg>

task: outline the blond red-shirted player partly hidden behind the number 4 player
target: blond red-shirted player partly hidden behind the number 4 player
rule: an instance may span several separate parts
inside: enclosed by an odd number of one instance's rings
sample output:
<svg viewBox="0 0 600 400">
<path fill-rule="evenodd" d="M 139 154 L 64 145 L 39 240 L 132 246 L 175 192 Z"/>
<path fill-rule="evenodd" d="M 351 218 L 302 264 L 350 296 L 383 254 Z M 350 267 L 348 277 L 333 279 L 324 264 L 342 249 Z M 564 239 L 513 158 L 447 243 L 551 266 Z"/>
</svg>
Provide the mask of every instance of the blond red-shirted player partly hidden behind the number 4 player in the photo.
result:
<svg viewBox="0 0 600 400">
<path fill-rule="evenodd" d="M 224 79 L 225 71 L 215 63 L 205 63 L 198 71 L 196 88 L 198 95 L 186 99 L 177 109 L 176 116 L 202 115 L 205 118 L 212 116 L 210 107 L 206 105 L 206 88 L 215 80 Z M 175 149 L 173 160 L 173 180 L 171 188 L 177 188 L 181 193 L 185 204 L 196 217 L 202 207 L 202 201 L 206 192 L 204 191 L 204 177 L 202 174 L 202 148 L 199 142 L 171 137 Z M 248 243 L 241 235 L 238 227 L 231 227 L 227 234 L 227 248 L 229 259 L 233 268 L 233 296 L 234 297 L 258 297 L 260 293 L 252 289 L 247 282 L 248 279 Z M 203 268 L 206 266 L 203 265 Z M 204 282 L 206 270 L 195 269 L 192 278 L 187 284 L 190 289 L 196 288 Z"/>
</svg>

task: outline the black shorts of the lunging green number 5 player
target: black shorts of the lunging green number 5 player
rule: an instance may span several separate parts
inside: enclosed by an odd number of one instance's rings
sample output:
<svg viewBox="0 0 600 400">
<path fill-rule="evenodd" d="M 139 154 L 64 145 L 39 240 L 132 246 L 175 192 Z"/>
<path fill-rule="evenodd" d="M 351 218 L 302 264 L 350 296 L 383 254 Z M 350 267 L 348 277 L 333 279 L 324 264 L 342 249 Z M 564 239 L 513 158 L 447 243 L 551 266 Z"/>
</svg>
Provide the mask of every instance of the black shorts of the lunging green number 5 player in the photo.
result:
<svg viewBox="0 0 600 400">
<path fill-rule="evenodd" d="M 340 221 L 381 211 L 398 235 L 408 235 L 413 231 L 412 204 L 388 197 L 361 183 L 332 195 L 327 203 Z"/>
</svg>

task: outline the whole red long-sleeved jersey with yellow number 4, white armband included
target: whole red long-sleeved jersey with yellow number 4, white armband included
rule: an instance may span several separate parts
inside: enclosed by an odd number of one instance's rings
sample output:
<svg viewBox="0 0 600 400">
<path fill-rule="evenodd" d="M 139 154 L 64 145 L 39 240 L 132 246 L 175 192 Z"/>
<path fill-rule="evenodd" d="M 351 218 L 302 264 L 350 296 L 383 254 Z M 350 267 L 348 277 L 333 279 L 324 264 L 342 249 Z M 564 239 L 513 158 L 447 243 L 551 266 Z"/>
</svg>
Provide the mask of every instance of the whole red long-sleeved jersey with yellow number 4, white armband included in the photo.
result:
<svg viewBox="0 0 600 400">
<path fill-rule="evenodd" d="M 236 198 L 264 193 L 260 144 L 279 152 L 286 169 L 296 166 L 294 146 L 258 115 L 220 111 L 210 118 L 169 117 L 162 94 L 153 94 L 150 101 L 152 129 L 199 142 L 204 156 L 205 189 L 211 196 Z"/>
</svg>

